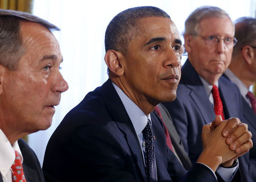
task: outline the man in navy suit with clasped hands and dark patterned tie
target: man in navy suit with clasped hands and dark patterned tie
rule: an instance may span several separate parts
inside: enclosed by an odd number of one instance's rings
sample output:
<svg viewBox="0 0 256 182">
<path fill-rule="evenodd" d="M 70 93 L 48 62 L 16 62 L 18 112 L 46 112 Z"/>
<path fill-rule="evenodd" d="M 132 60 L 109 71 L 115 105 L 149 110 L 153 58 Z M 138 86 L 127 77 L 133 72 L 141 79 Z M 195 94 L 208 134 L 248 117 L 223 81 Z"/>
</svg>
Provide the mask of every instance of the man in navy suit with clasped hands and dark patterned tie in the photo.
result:
<svg viewBox="0 0 256 182">
<path fill-rule="evenodd" d="M 53 133 L 43 163 L 46 180 L 216 181 L 221 163 L 248 151 L 250 132 L 234 118 L 212 132 L 204 126 L 205 150 L 188 172 L 168 150 L 163 123 L 152 111 L 176 97 L 180 47 L 175 24 L 156 7 L 115 16 L 105 35 L 110 79 L 88 93 Z M 242 151 L 231 151 L 233 143 L 226 140 L 243 134 L 247 137 L 239 137 L 243 144 L 237 146 Z"/>
</svg>

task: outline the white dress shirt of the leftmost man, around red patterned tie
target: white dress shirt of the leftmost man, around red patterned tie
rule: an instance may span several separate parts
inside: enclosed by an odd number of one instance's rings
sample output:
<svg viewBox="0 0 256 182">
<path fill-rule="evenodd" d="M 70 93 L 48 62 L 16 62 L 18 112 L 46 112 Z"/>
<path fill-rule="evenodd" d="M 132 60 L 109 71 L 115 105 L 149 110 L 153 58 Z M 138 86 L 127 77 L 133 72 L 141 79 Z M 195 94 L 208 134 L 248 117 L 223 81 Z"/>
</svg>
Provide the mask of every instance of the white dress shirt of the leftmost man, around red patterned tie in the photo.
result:
<svg viewBox="0 0 256 182">
<path fill-rule="evenodd" d="M 11 143 L 0 129 L 0 172 L 3 182 L 12 181 L 11 166 L 15 160 L 15 150 L 18 151 L 21 162 L 23 162 L 18 142 L 14 142 L 13 146 L 11 146 Z"/>
</svg>

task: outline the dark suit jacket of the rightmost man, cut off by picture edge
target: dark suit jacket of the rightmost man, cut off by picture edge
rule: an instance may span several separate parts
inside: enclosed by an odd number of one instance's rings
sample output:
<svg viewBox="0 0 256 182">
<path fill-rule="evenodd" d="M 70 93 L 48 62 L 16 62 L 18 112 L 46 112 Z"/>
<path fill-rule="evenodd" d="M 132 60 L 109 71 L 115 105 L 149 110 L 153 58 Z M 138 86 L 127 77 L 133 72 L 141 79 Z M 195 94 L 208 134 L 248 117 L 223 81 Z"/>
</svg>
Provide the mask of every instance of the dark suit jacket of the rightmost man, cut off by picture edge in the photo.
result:
<svg viewBox="0 0 256 182">
<path fill-rule="evenodd" d="M 228 78 L 225 74 L 224 77 Z M 228 78 L 229 79 L 229 78 Z M 242 97 L 242 95 L 241 95 Z M 253 109 L 251 109 L 250 105 L 245 101 L 245 98 L 242 97 L 242 114 L 243 119 L 242 122 L 247 123 L 248 130 L 251 131 L 253 137 L 254 146 L 250 149 L 249 152 L 249 169 L 250 169 L 250 176 L 252 176 L 253 180 L 256 181 L 256 114 L 254 113 Z"/>
</svg>

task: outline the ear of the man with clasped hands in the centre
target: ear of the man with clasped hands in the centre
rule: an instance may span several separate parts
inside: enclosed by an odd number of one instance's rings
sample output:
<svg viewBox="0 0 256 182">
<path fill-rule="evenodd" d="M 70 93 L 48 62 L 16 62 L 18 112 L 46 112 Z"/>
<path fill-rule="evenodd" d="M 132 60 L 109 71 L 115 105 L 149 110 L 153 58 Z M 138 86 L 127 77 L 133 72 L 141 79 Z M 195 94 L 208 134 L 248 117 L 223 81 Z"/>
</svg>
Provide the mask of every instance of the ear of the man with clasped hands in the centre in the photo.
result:
<svg viewBox="0 0 256 182">
<path fill-rule="evenodd" d="M 105 63 L 108 65 L 109 71 L 114 73 L 117 76 L 122 76 L 123 69 L 123 59 L 124 56 L 119 51 L 114 51 L 112 49 L 108 50 L 105 54 Z"/>
</svg>

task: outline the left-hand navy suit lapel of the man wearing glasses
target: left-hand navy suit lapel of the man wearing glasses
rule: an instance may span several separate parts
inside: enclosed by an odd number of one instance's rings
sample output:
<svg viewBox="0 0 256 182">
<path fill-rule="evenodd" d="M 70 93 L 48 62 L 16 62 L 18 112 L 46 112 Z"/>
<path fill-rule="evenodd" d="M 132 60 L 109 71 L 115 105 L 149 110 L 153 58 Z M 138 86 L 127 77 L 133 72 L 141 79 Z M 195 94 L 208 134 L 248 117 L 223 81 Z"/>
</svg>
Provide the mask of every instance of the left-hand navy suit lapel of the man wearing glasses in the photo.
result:
<svg viewBox="0 0 256 182">
<path fill-rule="evenodd" d="M 189 60 L 186 61 L 182 68 L 181 82 L 183 82 L 191 90 L 189 96 L 195 102 L 199 109 L 205 124 L 212 122 L 215 118 L 215 113 L 212 104 L 209 101 L 206 90 L 198 73 L 192 67 Z M 212 109 L 209 109 L 212 108 Z"/>
</svg>

